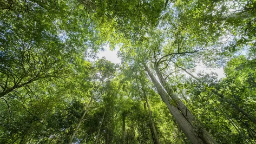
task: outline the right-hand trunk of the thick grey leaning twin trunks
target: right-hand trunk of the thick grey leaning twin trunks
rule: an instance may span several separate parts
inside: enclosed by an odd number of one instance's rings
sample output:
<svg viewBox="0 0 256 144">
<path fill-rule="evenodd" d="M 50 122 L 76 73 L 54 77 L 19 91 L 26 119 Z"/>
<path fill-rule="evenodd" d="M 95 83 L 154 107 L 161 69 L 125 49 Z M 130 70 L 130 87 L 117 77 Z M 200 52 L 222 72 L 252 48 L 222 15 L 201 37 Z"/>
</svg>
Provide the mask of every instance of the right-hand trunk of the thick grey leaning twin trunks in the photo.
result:
<svg viewBox="0 0 256 144">
<path fill-rule="evenodd" d="M 193 128 L 197 128 L 194 124 L 195 117 L 191 113 L 191 111 L 187 108 L 186 105 L 177 97 L 176 94 L 173 93 L 172 89 L 169 87 L 169 85 L 166 83 L 165 79 L 163 78 L 161 72 L 158 70 L 158 68 L 155 69 L 157 72 L 158 79 L 160 80 L 160 83 L 163 85 L 164 89 L 168 93 L 168 95 L 171 97 L 171 99 L 177 103 L 177 108 L 181 111 L 181 113 L 184 115 L 184 117 L 190 122 L 190 124 L 193 126 Z M 200 127 L 200 131 L 198 133 L 199 137 L 201 137 L 205 144 L 217 144 L 217 142 L 210 136 L 210 134 Z"/>
</svg>

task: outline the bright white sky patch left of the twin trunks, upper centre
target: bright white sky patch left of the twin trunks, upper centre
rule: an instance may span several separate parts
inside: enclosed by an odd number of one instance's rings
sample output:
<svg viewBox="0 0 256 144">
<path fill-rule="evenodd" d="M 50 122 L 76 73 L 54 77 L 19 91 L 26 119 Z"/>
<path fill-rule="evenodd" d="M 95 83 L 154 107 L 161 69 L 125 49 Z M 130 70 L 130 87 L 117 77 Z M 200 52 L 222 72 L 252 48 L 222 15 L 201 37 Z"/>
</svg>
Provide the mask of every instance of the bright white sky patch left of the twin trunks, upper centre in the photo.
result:
<svg viewBox="0 0 256 144">
<path fill-rule="evenodd" d="M 104 51 L 99 51 L 99 53 L 97 54 L 97 56 L 99 58 L 105 57 L 106 60 L 111 61 L 112 63 L 118 64 L 121 63 L 121 59 L 118 58 L 118 48 L 116 48 L 113 51 L 109 50 L 109 46 L 103 46 L 104 47 Z"/>
</svg>

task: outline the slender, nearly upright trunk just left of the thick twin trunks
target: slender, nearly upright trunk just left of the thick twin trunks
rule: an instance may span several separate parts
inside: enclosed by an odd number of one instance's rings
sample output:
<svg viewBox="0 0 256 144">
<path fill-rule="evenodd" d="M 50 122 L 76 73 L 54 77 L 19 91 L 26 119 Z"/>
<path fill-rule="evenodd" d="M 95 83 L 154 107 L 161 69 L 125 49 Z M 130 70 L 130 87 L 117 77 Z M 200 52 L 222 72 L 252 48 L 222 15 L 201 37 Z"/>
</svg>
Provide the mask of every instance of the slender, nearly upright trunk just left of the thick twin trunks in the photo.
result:
<svg viewBox="0 0 256 144">
<path fill-rule="evenodd" d="M 153 136 L 153 142 L 154 144 L 160 144 L 160 140 L 158 138 L 158 133 L 157 133 L 157 130 L 156 130 L 156 127 L 155 127 L 155 124 L 154 124 L 154 119 L 152 117 L 152 111 L 150 109 L 150 105 L 148 103 L 148 98 L 147 98 L 147 95 L 146 95 L 146 92 L 144 89 L 142 89 L 143 91 L 143 95 L 144 95 L 144 98 L 146 100 L 146 104 L 147 104 L 147 107 L 148 107 L 148 111 L 149 111 L 149 117 L 150 117 L 150 122 L 151 122 L 151 131 L 152 131 L 152 136 Z"/>
</svg>

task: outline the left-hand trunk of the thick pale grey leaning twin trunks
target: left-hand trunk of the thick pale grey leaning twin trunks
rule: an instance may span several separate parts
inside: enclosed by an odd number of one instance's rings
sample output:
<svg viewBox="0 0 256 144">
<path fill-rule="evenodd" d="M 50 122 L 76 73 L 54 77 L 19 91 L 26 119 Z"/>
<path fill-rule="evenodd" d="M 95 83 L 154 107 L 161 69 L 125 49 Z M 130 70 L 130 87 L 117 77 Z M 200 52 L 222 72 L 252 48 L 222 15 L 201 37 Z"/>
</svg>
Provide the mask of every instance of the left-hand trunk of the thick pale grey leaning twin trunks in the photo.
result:
<svg viewBox="0 0 256 144">
<path fill-rule="evenodd" d="M 171 112 L 172 116 L 176 120 L 177 124 L 179 127 L 182 129 L 186 137 L 190 140 L 192 144 L 205 144 L 205 142 L 201 139 L 201 137 L 198 137 L 197 133 L 194 131 L 193 126 L 190 124 L 190 122 L 184 117 L 184 115 L 179 111 L 179 109 L 171 105 L 169 103 L 169 96 L 168 94 L 164 91 L 162 86 L 158 83 L 157 79 L 154 77 L 153 73 L 149 70 L 147 65 L 144 64 L 144 68 L 146 72 L 148 73 L 149 77 L 151 78 L 151 81 L 155 85 L 159 95 L 163 99 L 165 105 Z"/>
</svg>

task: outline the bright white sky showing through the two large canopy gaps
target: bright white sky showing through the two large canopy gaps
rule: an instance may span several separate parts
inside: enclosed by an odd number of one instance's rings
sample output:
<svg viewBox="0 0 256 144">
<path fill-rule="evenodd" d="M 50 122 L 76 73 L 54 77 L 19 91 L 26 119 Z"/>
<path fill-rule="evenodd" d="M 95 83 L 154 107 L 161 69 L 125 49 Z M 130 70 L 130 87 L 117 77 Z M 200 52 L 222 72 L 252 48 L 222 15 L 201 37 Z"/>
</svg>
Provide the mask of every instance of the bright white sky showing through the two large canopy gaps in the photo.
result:
<svg viewBox="0 0 256 144">
<path fill-rule="evenodd" d="M 117 56 L 118 49 L 116 48 L 113 51 L 110 51 L 108 46 L 104 47 L 104 51 L 100 51 L 98 53 L 98 57 L 105 57 L 105 59 L 111 61 L 112 63 L 118 64 L 121 62 L 121 60 Z M 224 71 L 223 68 L 216 68 L 216 69 L 206 69 L 203 65 L 197 65 L 196 66 L 196 72 L 193 72 L 193 74 L 196 76 L 197 72 L 203 72 L 203 73 L 210 73 L 210 72 L 216 72 L 218 74 L 218 79 L 224 78 Z"/>
</svg>

